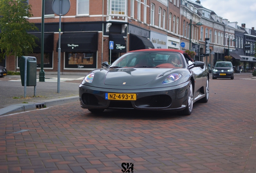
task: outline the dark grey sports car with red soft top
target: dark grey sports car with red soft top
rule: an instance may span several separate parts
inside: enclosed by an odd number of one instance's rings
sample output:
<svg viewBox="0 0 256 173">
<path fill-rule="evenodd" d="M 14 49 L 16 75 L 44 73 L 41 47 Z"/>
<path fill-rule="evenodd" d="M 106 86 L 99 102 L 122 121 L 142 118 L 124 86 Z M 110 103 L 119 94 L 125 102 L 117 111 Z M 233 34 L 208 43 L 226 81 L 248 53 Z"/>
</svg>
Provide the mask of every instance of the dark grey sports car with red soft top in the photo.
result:
<svg viewBox="0 0 256 173">
<path fill-rule="evenodd" d="M 181 50 L 128 52 L 109 66 L 95 69 L 79 86 L 81 107 L 175 111 L 190 115 L 193 103 L 209 98 L 209 72 Z"/>
</svg>

